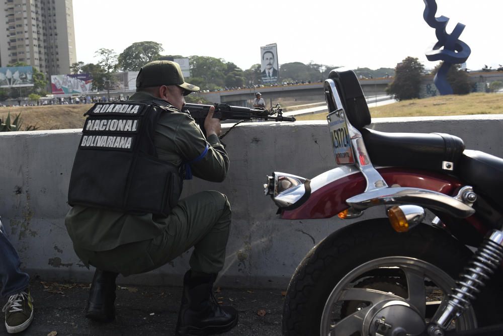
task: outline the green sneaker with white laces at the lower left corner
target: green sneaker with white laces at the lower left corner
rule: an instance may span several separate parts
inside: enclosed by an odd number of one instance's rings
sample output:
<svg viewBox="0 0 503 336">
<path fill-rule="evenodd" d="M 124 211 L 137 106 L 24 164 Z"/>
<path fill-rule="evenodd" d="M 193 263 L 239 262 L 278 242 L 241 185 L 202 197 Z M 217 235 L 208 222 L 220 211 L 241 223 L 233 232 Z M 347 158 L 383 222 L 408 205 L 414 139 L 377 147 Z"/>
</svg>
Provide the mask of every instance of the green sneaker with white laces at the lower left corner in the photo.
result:
<svg viewBox="0 0 503 336">
<path fill-rule="evenodd" d="M 11 295 L 2 309 L 5 311 L 7 332 L 16 333 L 25 330 L 33 320 L 33 299 L 30 290 Z"/>
</svg>

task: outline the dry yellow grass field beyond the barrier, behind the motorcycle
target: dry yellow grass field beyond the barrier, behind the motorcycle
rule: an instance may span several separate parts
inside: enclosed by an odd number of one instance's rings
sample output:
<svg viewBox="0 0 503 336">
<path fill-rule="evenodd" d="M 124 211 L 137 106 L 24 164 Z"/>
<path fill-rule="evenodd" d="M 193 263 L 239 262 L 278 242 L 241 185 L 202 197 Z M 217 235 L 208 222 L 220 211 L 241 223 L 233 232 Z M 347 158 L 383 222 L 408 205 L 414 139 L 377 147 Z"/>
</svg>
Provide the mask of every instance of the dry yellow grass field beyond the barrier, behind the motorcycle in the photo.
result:
<svg viewBox="0 0 503 336">
<path fill-rule="evenodd" d="M 450 95 L 413 99 L 372 107 L 370 114 L 372 118 L 503 114 L 503 95 L 475 93 L 464 96 Z M 297 120 L 324 119 L 326 119 L 326 113 L 299 116 L 297 118 Z"/>
</svg>

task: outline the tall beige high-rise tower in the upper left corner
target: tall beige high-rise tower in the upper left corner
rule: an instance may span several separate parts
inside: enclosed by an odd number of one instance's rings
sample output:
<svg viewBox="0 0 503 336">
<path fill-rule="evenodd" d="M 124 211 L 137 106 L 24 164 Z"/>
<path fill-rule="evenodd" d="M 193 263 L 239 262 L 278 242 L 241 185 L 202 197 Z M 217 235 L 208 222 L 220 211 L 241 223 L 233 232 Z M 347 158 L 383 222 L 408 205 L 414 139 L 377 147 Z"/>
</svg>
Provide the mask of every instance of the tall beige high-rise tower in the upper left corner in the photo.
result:
<svg viewBox="0 0 503 336">
<path fill-rule="evenodd" d="M 0 65 L 25 62 L 48 75 L 76 62 L 72 0 L 0 0 Z"/>
</svg>

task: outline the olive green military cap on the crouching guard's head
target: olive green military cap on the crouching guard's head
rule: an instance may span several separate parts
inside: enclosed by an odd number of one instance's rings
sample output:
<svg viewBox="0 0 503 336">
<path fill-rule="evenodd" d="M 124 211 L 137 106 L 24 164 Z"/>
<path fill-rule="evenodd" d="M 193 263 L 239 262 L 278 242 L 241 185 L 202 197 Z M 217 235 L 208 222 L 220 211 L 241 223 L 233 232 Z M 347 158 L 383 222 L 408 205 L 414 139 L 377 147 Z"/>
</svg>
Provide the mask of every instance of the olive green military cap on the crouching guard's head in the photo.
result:
<svg viewBox="0 0 503 336">
<path fill-rule="evenodd" d="M 136 77 L 136 88 L 176 85 L 184 89 L 184 96 L 199 91 L 199 87 L 185 82 L 180 65 L 172 61 L 153 61 L 143 65 Z"/>
</svg>

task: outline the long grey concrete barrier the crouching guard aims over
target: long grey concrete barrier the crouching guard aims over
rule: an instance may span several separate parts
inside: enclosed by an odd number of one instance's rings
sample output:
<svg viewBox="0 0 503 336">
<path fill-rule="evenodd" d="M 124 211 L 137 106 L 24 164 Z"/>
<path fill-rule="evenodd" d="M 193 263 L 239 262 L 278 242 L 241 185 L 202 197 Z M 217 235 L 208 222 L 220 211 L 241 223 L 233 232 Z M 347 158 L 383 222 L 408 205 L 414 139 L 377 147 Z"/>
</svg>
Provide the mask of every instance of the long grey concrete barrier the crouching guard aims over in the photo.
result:
<svg viewBox="0 0 503 336">
<path fill-rule="evenodd" d="M 469 149 L 503 157 L 503 115 L 446 118 L 382 118 L 372 128 L 388 132 L 444 132 Z M 46 280 L 90 281 L 64 226 L 79 130 L 0 133 L 0 215 L 23 268 Z M 282 220 L 263 194 L 273 171 L 312 178 L 335 166 L 326 122 L 247 123 L 225 138 L 231 164 L 224 183 L 194 179 L 183 195 L 213 189 L 229 197 L 233 221 L 221 284 L 285 288 L 307 251 L 330 232 L 351 223 L 338 218 Z M 369 216 L 384 213 L 368 213 Z M 360 218 L 361 220 L 361 218 Z M 190 251 L 164 267 L 121 283 L 181 284 Z"/>
</svg>

